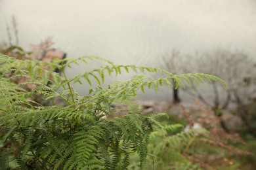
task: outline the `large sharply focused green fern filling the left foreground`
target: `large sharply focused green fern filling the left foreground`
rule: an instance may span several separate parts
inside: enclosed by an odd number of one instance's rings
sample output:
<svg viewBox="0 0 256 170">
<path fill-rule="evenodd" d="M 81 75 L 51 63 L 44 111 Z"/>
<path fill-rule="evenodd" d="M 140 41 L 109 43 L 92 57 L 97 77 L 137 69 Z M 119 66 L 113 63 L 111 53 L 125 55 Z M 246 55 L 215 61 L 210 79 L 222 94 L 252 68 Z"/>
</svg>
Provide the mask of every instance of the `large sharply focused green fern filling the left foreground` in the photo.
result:
<svg viewBox="0 0 256 170">
<path fill-rule="evenodd" d="M 100 59 L 106 61 L 106 65 L 66 77 L 64 67 L 81 61 L 87 63 L 88 59 Z M 64 76 L 54 73 L 56 68 Z M 121 71 L 162 72 L 166 76 L 156 80 L 135 76 L 110 84 L 110 88 L 100 86 L 106 73 L 118 75 Z M 22 77 L 28 81 L 17 83 Z M 80 96 L 70 85 L 83 78 L 89 84 L 92 78 L 98 82 L 97 88 L 89 90 L 91 95 Z M 44 63 L 0 54 L 0 164 L 3 169 L 127 169 L 130 154 L 137 152 L 140 167 L 146 169 L 150 134 L 165 131 L 165 128 L 156 121 L 162 114 L 144 116 L 131 99 L 137 90 L 144 92 L 145 87 L 153 87 L 158 92 L 158 86 L 172 86 L 173 80 L 177 82 L 176 88 L 191 84 L 191 81 L 219 81 L 226 86 L 216 76 L 173 75 L 152 67 L 114 65 L 97 57 L 55 59 L 52 63 Z M 22 88 L 28 84 L 36 86 L 32 91 Z M 52 104 L 36 102 L 39 96 Z M 57 97 L 65 106 L 54 103 Z M 106 119 L 115 111 L 113 103 L 129 105 L 129 114 Z"/>
</svg>

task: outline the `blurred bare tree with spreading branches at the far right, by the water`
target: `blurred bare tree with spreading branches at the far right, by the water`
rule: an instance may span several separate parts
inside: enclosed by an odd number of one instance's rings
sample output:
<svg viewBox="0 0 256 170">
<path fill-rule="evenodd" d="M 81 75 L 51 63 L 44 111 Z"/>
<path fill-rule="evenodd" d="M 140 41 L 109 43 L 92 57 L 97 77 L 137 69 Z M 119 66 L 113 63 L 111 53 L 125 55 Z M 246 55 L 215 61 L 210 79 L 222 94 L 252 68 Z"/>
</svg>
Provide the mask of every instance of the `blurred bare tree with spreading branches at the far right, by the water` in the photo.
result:
<svg viewBox="0 0 256 170">
<path fill-rule="evenodd" d="M 191 95 L 198 97 L 205 105 L 211 107 L 215 115 L 219 116 L 223 128 L 228 131 L 221 119 L 221 110 L 226 109 L 230 102 L 241 105 L 241 102 L 246 103 L 250 97 L 255 96 L 256 86 L 251 83 L 255 79 L 255 69 L 253 69 L 255 61 L 244 52 L 231 52 L 223 49 L 196 53 L 192 58 L 194 63 L 191 65 L 194 66 L 195 72 L 218 76 L 228 84 L 228 89 L 224 90 L 218 84 L 213 83 L 212 90 L 207 89 L 206 92 L 208 95 L 211 93 L 212 97 L 202 94 L 202 90 L 198 90 L 197 86 L 192 86 L 186 90 Z M 246 83 L 247 86 L 245 86 Z"/>
</svg>

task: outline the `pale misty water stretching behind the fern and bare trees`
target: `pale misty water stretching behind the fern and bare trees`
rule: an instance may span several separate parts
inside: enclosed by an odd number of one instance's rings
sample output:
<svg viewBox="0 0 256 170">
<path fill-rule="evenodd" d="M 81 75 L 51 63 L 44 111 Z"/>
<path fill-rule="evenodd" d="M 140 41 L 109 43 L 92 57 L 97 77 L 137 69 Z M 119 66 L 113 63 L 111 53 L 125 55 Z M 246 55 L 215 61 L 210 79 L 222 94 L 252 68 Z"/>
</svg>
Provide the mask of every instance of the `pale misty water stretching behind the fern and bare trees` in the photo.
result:
<svg viewBox="0 0 256 170">
<path fill-rule="evenodd" d="M 100 56 L 117 64 L 160 67 L 161 56 L 173 49 L 190 53 L 215 48 L 243 50 L 255 58 L 255 9 L 254 0 L 0 0 L 0 41 L 8 41 L 6 22 L 13 15 L 20 46 L 29 49 L 53 37 L 54 48 L 72 58 Z M 96 64 L 68 69 L 68 75 Z M 84 86 L 75 88 L 87 93 Z M 146 95 L 170 96 L 166 88 Z"/>
</svg>

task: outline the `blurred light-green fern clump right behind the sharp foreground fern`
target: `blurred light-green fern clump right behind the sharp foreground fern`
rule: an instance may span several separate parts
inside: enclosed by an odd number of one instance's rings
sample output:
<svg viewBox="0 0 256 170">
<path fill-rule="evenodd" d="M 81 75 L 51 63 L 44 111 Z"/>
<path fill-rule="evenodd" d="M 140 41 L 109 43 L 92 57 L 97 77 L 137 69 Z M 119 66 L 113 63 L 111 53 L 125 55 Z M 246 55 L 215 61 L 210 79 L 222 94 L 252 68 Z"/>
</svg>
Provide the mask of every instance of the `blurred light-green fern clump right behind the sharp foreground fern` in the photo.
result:
<svg viewBox="0 0 256 170">
<path fill-rule="evenodd" d="M 150 135 L 148 169 L 202 169 L 200 164 L 188 160 L 184 152 L 188 150 L 191 139 L 207 131 L 204 129 L 184 131 L 181 124 L 166 125 L 163 128 L 164 131 L 154 131 Z M 136 162 L 135 156 L 129 169 L 138 169 Z"/>
</svg>

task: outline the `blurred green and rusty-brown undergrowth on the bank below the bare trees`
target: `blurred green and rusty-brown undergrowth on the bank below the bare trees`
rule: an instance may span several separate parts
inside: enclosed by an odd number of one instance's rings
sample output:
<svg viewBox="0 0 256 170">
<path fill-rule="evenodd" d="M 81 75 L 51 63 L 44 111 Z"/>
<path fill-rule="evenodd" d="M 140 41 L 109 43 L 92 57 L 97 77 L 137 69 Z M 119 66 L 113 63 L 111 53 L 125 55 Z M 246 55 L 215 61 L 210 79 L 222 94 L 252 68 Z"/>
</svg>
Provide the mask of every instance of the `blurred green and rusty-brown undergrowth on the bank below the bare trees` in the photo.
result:
<svg viewBox="0 0 256 170">
<path fill-rule="evenodd" d="M 237 133 L 225 133 L 213 112 L 198 112 L 196 114 L 195 111 L 190 110 L 189 115 L 193 115 L 193 118 L 186 119 L 188 121 L 186 123 L 176 118 L 175 122 L 181 122 L 183 126 L 177 123 L 173 124 L 174 116 L 169 119 L 165 116 L 158 118 L 165 131 L 154 131 L 150 135 L 147 160 L 149 170 L 249 170 L 255 167 L 253 165 L 253 159 L 255 159 L 252 152 L 253 143 L 245 142 Z M 193 122 L 199 123 L 207 131 L 198 127 L 188 129 L 188 125 Z M 184 125 L 187 125 L 185 131 Z M 131 155 L 129 169 L 140 169 L 136 154 Z"/>
</svg>

